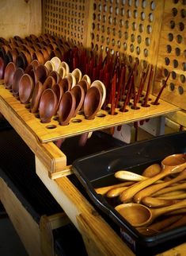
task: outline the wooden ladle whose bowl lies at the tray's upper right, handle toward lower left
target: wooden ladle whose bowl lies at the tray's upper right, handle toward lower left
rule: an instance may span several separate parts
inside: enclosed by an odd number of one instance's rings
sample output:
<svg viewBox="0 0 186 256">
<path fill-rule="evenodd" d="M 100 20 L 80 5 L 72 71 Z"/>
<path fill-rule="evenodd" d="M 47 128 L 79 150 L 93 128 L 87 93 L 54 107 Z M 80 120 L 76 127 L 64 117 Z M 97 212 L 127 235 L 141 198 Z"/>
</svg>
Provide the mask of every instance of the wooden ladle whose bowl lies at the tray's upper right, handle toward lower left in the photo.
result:
<svg viewBox="0 0 186 256">
<path fill-rule="evenodd" d="M 146 180 L 142 180 L 131 188 L 128 188 L 121 194 L 120 200 L 122 200 L 122 202 L 128 202 L 143 188 L 154 184 L 156 181 L 161 180 L 169 174 L 182 172 L 186 168 L 186 153 L 178 153 L 165 157 L 165 159 L 161 161 L 161 167 L 161 173 Z"/>
</svg>

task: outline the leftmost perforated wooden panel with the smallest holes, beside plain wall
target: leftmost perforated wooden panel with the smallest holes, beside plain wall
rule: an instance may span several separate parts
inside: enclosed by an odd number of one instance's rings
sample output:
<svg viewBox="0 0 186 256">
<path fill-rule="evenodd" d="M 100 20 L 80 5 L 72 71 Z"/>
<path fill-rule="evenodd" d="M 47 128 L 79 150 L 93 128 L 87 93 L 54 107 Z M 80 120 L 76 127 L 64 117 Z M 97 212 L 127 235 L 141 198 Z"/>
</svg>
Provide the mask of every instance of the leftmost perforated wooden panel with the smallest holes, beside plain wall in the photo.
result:
<svg viewBox="0 0 186 256">
<path fill-rule="evenodd" d="M 43 32 L 86 46 L 90 4 L 88 0 L 44 0 Z"/>
</svg>

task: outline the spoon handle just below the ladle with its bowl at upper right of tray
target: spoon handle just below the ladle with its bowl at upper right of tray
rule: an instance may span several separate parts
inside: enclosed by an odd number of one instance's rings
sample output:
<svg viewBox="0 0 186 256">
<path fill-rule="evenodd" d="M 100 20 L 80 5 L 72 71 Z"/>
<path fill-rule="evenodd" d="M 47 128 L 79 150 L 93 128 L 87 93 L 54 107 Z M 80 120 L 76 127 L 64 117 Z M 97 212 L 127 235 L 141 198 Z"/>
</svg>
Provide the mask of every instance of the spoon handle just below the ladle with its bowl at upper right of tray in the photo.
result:
<svg viewBox="0 0 186 256">
<path fill-rule="evenodd" d="M 150 196 L 153 195 L 154 192 L 159 191 L 161 188 L 165 188 L 173 183 L 176 183 L 177 181 L 184 180 L 186 178 L 186 169 L 180 173 L 176 178 L 173 178 L 172 180 L 165 181 L 161 184 L 153 184 L 147 188 L 142 189 L 138 193 L 135 194 L 134 200 L 136 203 L 140 203 L 142 198 L 144 196 Z"/>
</svg>

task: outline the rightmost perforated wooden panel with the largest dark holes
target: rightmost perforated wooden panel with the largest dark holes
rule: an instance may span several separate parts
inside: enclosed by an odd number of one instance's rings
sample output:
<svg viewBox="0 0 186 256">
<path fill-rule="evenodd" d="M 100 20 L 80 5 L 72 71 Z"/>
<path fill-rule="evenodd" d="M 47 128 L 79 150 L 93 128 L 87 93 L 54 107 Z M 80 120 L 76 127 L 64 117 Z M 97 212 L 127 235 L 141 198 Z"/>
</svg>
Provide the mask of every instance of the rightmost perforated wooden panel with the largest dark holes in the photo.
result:
<svg viewBox="0 0 186 256">
<path fill-rule="evenodd" d="M 167 87 L 161 95 L 177 106 L 186 109 L 186 1 L 165 2 L 162 19 L 158 70 L 154 84 L 154 94 L 161 87 L 161 79 L 169 76 Z"/>
</svg>

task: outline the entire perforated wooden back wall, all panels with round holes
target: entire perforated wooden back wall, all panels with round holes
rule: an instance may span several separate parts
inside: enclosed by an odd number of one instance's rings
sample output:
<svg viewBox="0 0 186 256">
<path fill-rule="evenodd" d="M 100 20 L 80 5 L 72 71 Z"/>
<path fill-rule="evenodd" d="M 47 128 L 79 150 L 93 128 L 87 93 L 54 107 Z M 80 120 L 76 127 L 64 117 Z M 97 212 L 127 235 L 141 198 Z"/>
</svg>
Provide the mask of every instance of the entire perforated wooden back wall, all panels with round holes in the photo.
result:
<svg viewBox="0 0 186 256">
<path fill-rule="evenodd" d="M 44 0 L 44 32 L 140 68 L 154 65 L 154 95 L 186 109 L 185 0 Z M 157 70 L 156 70 L 156 67 Z"/>
</svg>

